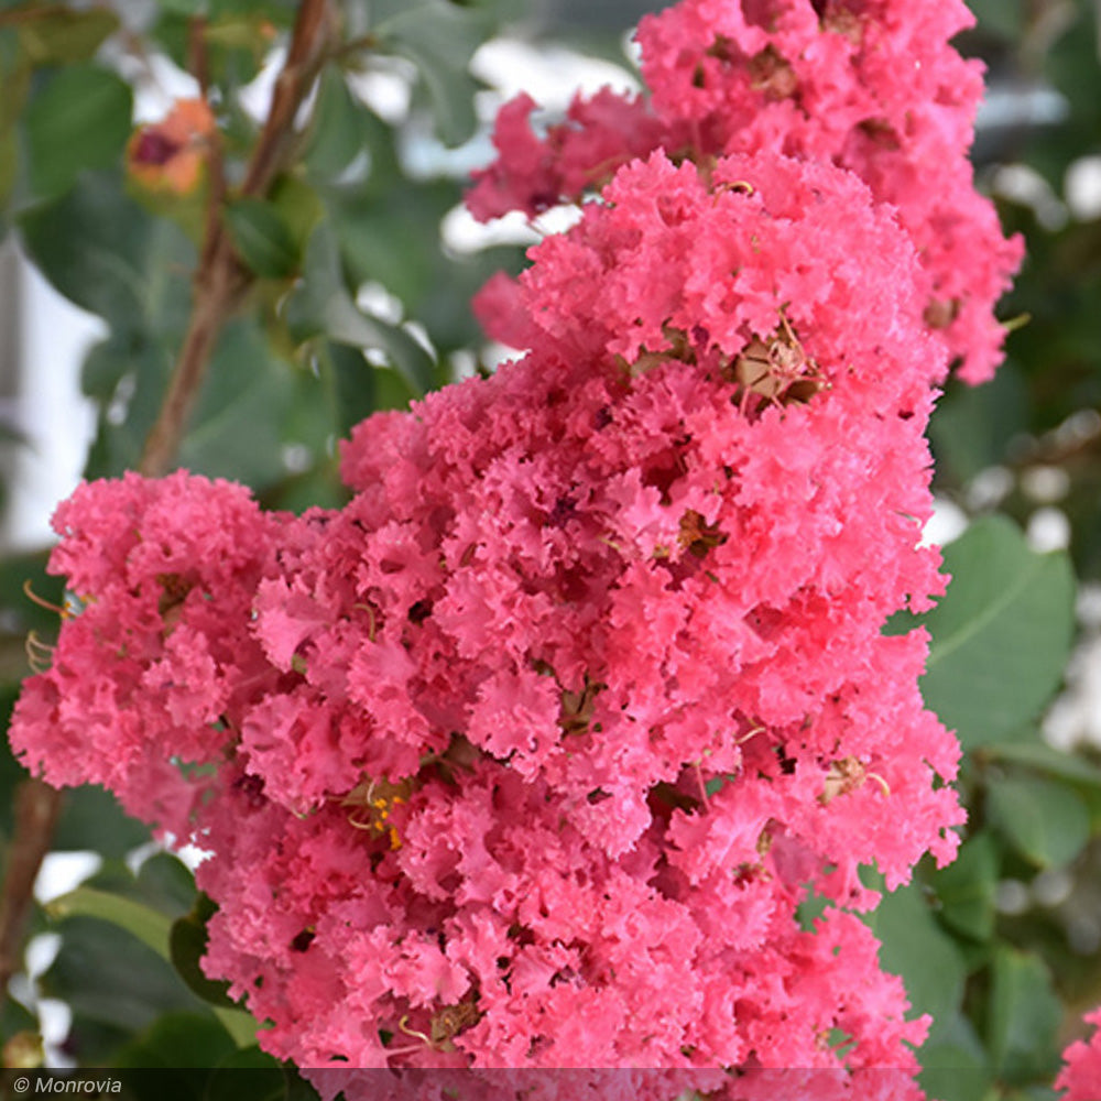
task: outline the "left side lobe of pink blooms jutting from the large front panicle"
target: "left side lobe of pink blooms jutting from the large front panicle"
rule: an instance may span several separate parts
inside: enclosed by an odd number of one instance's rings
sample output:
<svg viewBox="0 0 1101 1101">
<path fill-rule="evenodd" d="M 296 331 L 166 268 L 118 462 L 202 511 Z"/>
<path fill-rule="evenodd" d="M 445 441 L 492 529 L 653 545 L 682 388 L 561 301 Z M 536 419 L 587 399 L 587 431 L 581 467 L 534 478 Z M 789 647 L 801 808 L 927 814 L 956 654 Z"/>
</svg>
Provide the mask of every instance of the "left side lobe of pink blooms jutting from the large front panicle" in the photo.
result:
<svg viewBox="0 0 1101 1101">
<path fill-rule="evenodd" d="M 81 486 L 53 522 L 51 569 L 80 611 L 25 683 L 12 744 L 25 730 L 51 783 L 102 784 L 186 837 L 203 784 L 177 764 L 216 760 L 253 685 L 277 682 L 249 619 L 279 517 L 240 486 L 128 473 Z"/>
</svg>

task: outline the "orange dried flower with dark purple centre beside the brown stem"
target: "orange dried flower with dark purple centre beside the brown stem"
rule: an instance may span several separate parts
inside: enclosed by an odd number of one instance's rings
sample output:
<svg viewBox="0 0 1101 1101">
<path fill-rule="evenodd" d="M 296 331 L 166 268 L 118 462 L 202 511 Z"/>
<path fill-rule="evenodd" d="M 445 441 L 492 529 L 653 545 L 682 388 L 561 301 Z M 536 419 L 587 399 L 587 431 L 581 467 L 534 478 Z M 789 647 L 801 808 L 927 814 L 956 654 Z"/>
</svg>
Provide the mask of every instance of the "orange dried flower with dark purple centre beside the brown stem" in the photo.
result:
<svg viewBox="0 0 1101 1101">
<path fill-rule="evenodd" d="M 161 122 L 138 127 L 127 145 L 130 175 L 143 187 L 189 195 L 198 187 L 217 129 L 205 99 L 178 99 Z"/>
</svg>

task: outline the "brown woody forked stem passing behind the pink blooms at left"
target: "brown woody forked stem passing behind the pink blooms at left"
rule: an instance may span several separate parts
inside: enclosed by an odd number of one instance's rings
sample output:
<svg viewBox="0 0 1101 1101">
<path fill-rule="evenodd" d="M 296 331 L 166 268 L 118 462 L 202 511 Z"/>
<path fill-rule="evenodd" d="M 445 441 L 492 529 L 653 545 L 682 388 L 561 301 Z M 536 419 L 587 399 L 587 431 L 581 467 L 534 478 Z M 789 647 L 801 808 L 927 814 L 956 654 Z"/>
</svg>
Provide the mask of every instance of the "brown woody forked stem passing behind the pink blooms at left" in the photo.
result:
<svg viewBox="0 0 1101 1101">
<path fill-rule="evenodd" d="M 265 195 L 287 155 L 293 153 L 295 117 L 328 56 L 334 26 L 330 0 L 302 0 L 286 61 L 241 186 L 242 195 Z M 204 94 L 208 81 L 205 30 L 201 20 L 193 21 L 189 41 L 190 64 Z M 210 204 L 193 280 L 192 315 L 160 413 L 138 464 L 141 473 L 154 478 L 167 473 L 175 464 L 210 353 L 252 283 L 252 275 L 241 265 L 221 219 L 225 181 L 217 137 L 210 156 Z M 61 806 L 61 792 L 41 780 L 23 781 L 15 794 L 15 828 L 0 884 L 0 999 L 12 974 L 22 966 L 34 881 L 52 847 Z"/>
</svg>

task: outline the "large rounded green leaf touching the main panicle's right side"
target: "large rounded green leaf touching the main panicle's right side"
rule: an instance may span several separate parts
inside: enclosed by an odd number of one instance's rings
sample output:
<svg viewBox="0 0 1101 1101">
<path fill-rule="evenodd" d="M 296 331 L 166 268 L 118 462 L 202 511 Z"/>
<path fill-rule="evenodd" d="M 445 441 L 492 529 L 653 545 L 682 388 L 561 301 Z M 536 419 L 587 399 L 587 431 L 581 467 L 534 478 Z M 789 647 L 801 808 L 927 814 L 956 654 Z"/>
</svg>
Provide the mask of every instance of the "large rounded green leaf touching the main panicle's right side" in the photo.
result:
<svg viewBox="0 0 1101 1101">
<path fill-rule="evenodd" d="M 926 704 L 964 749 L 1031 722 L 1058 687 L 1073 636 L 1075 582 L 1065 554 L 1037 554 L 1004 516 L 974 521 L 945 547 L 947 595 L 916 621 L 930 635 Z"/>
</svg>

